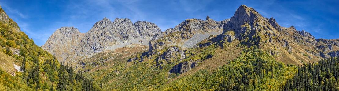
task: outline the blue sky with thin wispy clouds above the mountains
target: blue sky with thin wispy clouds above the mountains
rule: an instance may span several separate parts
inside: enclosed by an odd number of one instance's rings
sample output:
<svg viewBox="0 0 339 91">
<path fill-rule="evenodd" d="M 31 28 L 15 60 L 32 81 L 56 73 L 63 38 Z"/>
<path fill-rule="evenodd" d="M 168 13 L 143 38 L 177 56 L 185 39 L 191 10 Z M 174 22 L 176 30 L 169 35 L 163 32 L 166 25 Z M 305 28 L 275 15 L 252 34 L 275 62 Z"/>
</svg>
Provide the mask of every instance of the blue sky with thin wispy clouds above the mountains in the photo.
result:
<svg viewBox="0 0 339 91">
<path fill-rule="evenodd" d="M 60 27 L 82 33 L 95 22 L 129 18 L 155 23 L 162 31 L 187 18 L 231 18 L 240 5 L 274 17 L 283 27 L 294 26 L 316 38 L 339 38 L 339 0 L 1 0 L 0 5 L 39 46 Z"/>
</svg>

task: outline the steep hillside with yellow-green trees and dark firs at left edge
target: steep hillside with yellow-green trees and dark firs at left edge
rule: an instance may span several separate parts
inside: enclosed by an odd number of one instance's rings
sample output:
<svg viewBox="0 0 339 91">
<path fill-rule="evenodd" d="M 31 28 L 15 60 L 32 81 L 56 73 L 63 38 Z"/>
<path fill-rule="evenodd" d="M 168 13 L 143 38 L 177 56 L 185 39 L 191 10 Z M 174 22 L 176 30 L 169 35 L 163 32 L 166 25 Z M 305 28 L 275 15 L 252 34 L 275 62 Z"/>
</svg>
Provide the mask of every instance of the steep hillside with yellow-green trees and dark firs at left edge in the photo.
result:
<svg viewBox="0 0 339 91">
<path fill-rule="evenodd" d="M 72 66 L 34 44 L 0 8 L 0 90 L 101 90 Z"/>
</svg>

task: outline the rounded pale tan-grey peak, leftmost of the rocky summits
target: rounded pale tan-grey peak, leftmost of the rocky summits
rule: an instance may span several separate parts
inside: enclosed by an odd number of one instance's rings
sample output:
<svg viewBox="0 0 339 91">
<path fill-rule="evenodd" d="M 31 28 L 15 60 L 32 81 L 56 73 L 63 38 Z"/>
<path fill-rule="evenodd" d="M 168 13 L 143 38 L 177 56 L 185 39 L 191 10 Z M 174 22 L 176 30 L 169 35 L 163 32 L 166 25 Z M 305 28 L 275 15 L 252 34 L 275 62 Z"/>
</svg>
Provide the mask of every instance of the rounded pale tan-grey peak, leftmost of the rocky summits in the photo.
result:
<svg viewBox="0 0 339 91">
<path fill-rule="evenodd" d="M 68 55 L 73 53 L 83 36 L 84 34 L 80 33 L 77 28 L 62 27 L 48 38 L 42 48 L 56 56 L 60 62 L 64 62 Z"/>
</svg>

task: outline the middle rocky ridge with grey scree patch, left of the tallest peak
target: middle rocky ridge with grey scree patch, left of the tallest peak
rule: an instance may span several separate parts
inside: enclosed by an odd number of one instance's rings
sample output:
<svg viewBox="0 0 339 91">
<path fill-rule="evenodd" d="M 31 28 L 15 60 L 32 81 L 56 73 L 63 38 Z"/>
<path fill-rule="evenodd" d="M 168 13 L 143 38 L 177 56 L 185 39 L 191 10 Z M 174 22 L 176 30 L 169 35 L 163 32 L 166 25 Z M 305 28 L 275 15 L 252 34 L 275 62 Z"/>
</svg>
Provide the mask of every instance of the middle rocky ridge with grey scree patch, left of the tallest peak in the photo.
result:
<svg viewBox="0 0 339 91">
<path fill-rule="evenodd" d="M 167 29 L 163 34 L 156 34 L 149 43 L 149 51 L 166 48 L 166 46 L 191 48 L 211 35 L 221 34 L 222 23 L 226 24 L 227 21 L 215 21 L 209 16 L 206 17 L 206 20 L 186 19 L 178 26 Z"/>
</svg>

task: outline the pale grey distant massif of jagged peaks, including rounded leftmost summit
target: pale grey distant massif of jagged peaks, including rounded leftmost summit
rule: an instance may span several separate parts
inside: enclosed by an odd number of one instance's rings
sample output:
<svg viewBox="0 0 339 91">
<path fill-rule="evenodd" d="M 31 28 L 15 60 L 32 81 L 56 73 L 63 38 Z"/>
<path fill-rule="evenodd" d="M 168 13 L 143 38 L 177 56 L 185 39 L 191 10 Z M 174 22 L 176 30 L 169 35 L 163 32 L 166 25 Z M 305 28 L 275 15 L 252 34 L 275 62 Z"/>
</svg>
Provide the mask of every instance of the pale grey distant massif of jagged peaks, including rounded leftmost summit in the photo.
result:
<svg viewBox="0 0 339 91">
<path fill-rule="evenodd" d="M 81 56 L 92 56 L 104 50 L 112 50 L 130 44 L 147 45 L 149 40 L 162 32 L 155 24 L 127 18 L 108 18 L 95 23 L 91 30 L 82 34 L 74 27 L 58 29 L 42 46 L 58 60 L 76 61 Z"/>
</svg>

